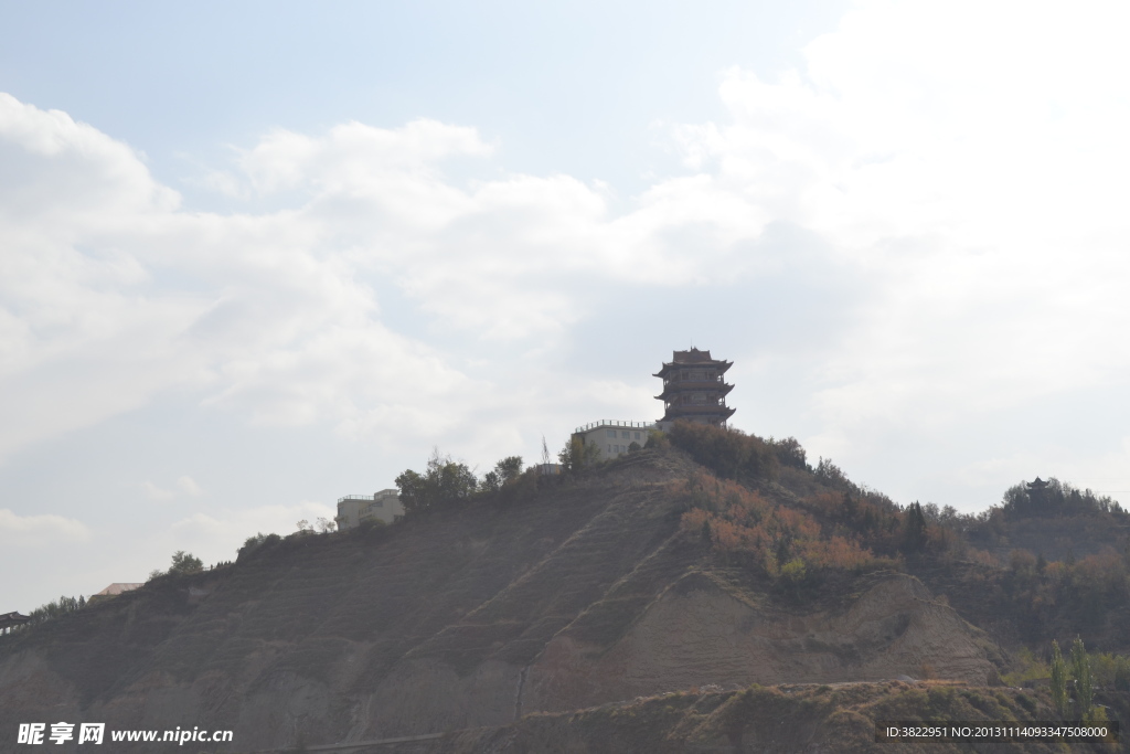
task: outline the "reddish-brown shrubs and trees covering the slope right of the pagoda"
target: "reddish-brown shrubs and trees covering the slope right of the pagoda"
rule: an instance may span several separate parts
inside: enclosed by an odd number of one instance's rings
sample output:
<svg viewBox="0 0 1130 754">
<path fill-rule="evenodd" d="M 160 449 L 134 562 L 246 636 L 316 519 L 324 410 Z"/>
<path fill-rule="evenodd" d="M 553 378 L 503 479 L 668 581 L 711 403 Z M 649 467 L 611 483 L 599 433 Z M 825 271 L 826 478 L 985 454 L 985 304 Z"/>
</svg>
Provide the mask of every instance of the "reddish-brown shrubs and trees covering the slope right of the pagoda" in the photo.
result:
<svg viewBox="0 0 1130 754">
<path fill-rule="evenodd" d="M 1130 652 L 1130 514 L 1110 499 L 1051 479 L 960 514 L 897 505 L 826 459 L 812 468 L 791 439 L 677 425 L 671 443 L 713 471 L 685 483 L 683 526 L 727 562 L 810 586 L 837 570 L 899 567 L 1006 644 L 1080 635 Z"/>
</svg>

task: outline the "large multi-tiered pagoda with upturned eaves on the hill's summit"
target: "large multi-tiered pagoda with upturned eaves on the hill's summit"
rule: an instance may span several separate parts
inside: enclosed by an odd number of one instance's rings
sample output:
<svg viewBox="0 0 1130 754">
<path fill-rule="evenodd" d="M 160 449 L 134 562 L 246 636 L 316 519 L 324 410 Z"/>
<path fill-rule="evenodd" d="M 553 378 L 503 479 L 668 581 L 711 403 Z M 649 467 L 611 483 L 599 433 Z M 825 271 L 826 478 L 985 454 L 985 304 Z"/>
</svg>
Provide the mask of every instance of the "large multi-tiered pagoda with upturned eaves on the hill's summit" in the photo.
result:
<svg viewBox="0 0 1130 754">
<path fill-rule="evenodd" d="M 663 380 L 663 392 L 655 396 L 667 409 L 661 422 L 686 419 L 701 424 L 725 426 L 737 409 L 725 405 L 733 390 L 722 376 L 733 362 L 711 358 L 709 350 L 677 350 L 670 362 L 654 376 Z"/>
</svg>

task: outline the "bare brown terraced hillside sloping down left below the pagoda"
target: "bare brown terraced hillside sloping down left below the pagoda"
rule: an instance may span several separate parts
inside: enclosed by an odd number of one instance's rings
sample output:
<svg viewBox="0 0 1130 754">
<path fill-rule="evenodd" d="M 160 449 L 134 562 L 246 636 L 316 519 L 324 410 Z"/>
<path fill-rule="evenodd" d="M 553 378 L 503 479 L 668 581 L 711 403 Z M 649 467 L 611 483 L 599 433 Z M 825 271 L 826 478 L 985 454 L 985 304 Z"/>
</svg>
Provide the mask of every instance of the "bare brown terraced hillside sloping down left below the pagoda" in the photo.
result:
<svg viewBox="0 0 1130 754">
<path fill-rule="evenodd" d="M 232 729 L 218 751 L 253 751 L 709 684 L 996 675 L 992 642 L 912 577 L 845 573 L 797 600 L 719 561 L 680 531 L 693 474 L 645 451 L 521 503 L 290 537 L 8 638 L 0 751 L 47 718 Z"/>
</svg>

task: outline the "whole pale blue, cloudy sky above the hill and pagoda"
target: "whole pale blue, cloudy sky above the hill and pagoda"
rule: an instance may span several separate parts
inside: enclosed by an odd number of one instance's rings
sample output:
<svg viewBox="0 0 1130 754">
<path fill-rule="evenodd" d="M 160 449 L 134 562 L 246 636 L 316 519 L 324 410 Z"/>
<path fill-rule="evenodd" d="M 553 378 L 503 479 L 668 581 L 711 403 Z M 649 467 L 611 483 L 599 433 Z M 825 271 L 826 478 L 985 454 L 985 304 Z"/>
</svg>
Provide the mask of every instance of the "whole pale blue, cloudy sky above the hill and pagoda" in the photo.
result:
<svg viewBox="0 0 1130 754">
<path fill-rule="evenodd" d="M 0 0 L 0 612 L 433 449 L 731 424 L 1130 501 L 1124 3 Z"/>
</svg>

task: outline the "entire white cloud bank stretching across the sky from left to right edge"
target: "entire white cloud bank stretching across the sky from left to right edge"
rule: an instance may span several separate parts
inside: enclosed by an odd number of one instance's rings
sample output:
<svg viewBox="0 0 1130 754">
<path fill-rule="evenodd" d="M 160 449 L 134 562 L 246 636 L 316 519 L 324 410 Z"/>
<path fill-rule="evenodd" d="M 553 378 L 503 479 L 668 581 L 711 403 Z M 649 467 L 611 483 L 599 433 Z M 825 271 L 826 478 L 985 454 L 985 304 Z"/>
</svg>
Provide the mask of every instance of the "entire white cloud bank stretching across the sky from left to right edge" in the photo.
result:
<svg viewBox="0 0 1130 754">
<path fill-rule="evenodd" d="M 1125 12 L 859 3 L 803 70 L 725 72 L 727 118 L 670 130 L 686 174 L 619 215 L 570 175 L 452 179 L 444 161 L 494 150 L 429 120 L 273 131 L 210 179 L 270 210 L 191 213 L 128 146 L 0 97 L 0 453 L 173 392 L 385 449 L 644 411 L 547 361 L 585 327 L 616 338 L 627 289 L 739 300 L 703 335 L 803 384 L 812 454 L 841 461 L 1123 383 Z M 798 280 L 854 298 L 798 301 Z M 806 317 L 834 336 L 800 362 L 772 333 Z M 992 463 L 958 476 L 1012 473 Z"/>
</svg>

